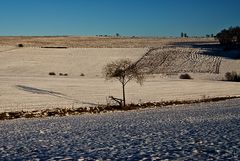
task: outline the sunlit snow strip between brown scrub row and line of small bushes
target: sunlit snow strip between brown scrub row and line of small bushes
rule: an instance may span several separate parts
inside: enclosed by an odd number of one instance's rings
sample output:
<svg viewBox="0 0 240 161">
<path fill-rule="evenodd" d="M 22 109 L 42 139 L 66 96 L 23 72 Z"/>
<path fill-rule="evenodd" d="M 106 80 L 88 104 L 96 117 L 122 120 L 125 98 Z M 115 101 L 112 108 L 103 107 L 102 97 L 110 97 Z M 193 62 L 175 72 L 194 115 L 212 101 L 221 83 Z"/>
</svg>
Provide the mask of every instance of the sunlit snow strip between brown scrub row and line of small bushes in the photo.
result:
<svg viewBox="0 0 240 161">
<path fill-rule="evenodd" d="M 118 82 L 102 78 L 1 77 L 0 112 L 106 104 L 121 98 Z M 149 78 L 143 86 L 129 83 L 127 102 L 188 100 L 239 95 L 239 83 Z"/>
</svg>

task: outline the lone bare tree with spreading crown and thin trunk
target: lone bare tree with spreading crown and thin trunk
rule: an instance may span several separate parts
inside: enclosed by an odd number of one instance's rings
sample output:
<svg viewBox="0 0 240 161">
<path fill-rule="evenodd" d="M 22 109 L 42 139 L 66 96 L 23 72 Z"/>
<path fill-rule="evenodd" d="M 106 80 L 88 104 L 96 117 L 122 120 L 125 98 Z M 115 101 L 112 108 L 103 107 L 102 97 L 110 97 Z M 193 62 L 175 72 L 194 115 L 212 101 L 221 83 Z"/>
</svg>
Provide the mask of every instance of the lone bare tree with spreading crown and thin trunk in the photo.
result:
<svg viewBox="0 0 240 161">
<path fill-rule="evenodd" d="M 143 73 L 129 59 L 121 59 L 107 64 L 103 69 L 106 80 L 117 79 L 122 84 L 123 106 L 126 106 L 125 86 L 135 80 L 140 85 L 143 84 Z"/>
</svg>

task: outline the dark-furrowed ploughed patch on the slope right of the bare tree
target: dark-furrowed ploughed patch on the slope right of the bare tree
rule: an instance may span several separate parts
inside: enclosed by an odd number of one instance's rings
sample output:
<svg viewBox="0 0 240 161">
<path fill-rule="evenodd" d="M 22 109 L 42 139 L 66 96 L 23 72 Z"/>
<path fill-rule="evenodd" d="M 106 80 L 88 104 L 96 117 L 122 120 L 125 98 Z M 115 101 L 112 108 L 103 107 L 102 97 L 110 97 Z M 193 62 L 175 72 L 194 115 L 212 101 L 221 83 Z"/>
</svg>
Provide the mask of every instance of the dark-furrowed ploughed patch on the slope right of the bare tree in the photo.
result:
<svg viewBox="0 0 240 161">
<path fill-rule="evenodd" d="M 162 47 L 148 51 L 138 62 L 147 74 L 215 73 L 219 74 L 222 58 L 204 55 L 201 49 Z"/>
</svg>

